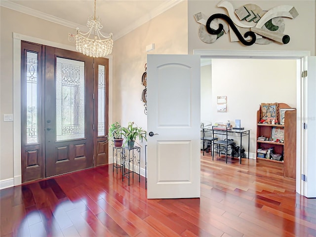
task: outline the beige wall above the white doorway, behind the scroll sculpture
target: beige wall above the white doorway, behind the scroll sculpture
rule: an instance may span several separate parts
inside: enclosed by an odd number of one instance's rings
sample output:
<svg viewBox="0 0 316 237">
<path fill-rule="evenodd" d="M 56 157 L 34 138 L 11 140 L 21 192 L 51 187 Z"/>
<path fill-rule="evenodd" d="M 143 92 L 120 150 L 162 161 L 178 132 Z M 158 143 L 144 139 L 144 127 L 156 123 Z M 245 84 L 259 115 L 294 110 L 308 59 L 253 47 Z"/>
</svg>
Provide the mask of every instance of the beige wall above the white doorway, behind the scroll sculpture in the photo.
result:
<svg viewBox="0 0 316 237">
<path fill-rule="evenodd" d="M 204 43 L 199 39 L 197 31 L 199 23 L 195 20 L 194 15 L 202 12 L 208 18 L 215 13 L 228 14 L 227 10 L 222 7 L 217 7 L 220 0 L 189 0 L 188 2 L 188 26 L 189 26 L 189 54 L 193 53 L 194 49 L 204 50 L 264 50 L 264 51 L 310 51 L 311 55 L 315 55 L 315 0 L 236 0 L 230 1 L 234 8 L 238 8 L 247 3 L 254 3 L 260 6 L 263 10 L 270 10 L 279 5 L 293 5 L 299 15 L 295 19 L 284 18 L 285 34 L 290 36 L 290 42 L 287 44 L 271 43 L 268 45 L 253 44 L 244 46 L 240 42 L 231 42 L 229 34 L 224 34 L 214 43 Z"/>
</svg>

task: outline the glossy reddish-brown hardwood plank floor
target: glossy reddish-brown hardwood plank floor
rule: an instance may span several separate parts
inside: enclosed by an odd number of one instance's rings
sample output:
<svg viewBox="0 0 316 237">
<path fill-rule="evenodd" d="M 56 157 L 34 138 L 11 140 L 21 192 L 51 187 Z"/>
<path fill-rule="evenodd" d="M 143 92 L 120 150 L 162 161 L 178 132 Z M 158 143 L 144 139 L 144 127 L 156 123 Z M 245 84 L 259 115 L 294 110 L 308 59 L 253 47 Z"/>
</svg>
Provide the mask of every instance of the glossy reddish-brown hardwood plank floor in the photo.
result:
<svg viewBox="0 0 316 237">
<path fill-rule="evenodd" d="M 1 237 L 315 237 L 316 199 L 282 168 L 201 155 L 201 197 L 147 199 L 106 165 L 0 191 Z"/>
</svg>

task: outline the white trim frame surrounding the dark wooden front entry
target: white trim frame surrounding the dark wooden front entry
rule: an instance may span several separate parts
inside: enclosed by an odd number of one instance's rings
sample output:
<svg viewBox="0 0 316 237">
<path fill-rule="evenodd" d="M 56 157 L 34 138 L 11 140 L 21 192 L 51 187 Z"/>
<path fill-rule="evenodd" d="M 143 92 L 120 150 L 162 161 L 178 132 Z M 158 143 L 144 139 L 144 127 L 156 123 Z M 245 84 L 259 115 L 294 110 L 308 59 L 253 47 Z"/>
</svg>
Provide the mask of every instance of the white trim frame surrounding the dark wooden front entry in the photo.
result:
<svg viewBox="0 0 316 237">
<path fill-rule="evenodd" d="M 66 45 L 56 43 L 49 40 L 21 35 L 13 32 L 13 183 L 9 186 L 17 186 L 22 184 L 21 172 L 21 40 L 42 45 L 52 46 L 71 51 L 77 51 L 75 45 Z M 109 124 L 112 123 L 113 115 L 113 56 L 108 55 L 109 59 Z"/>
</svg>

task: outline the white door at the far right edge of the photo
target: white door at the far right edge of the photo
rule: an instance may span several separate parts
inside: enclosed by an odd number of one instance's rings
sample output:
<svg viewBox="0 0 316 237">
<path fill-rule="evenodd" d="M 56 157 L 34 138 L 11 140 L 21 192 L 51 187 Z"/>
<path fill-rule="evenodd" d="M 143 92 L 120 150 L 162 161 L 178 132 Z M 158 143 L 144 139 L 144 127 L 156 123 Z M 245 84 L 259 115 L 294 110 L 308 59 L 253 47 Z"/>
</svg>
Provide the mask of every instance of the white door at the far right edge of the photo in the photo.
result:
<svg viewBox="0 0 316 237">
<path fill-rule="evenodd" d="M 304 122 L 307 123 L 307 156 L 303 159 L 305 174 L 304 196 L 316 197 L 316 57 L 307 57 L 307 106 Z"/>
</svg>

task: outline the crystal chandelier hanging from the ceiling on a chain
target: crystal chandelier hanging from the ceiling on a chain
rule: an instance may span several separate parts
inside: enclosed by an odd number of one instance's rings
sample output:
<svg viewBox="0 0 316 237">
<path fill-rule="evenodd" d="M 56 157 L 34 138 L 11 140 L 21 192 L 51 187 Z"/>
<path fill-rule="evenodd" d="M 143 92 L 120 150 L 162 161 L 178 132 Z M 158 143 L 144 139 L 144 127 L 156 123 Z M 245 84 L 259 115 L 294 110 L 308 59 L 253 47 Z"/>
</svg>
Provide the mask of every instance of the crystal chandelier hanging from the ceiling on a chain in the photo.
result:
<svg viewBox="0 0 316 237">
<path fill-rule="evenodd" d="M 113 34 L 110 33 L 108 37 L 102 35 L 100 31 L 103 28 L 101 18 L 95 16 L 95 9 L 96 0 L 94 0 L 94 15 L 89 16 L 87 21 L 87 27 L 90 30 L 87 33 L 81 33 L 77 28 L 76 49 L 85 55 L 97 58 L 112 53 Z"/>
</svg>

